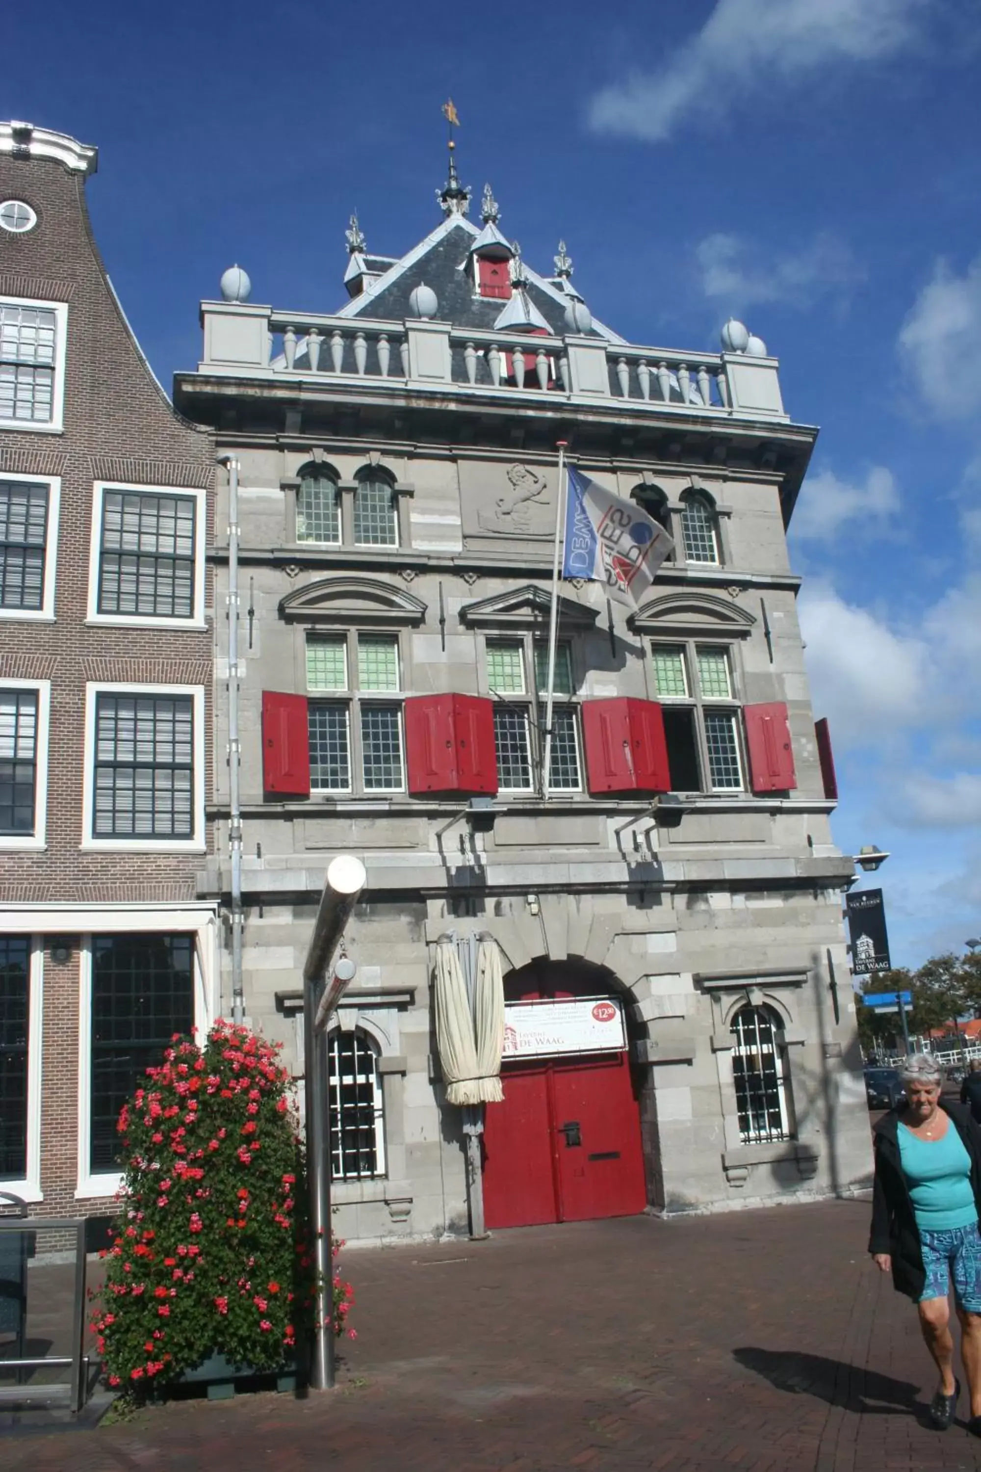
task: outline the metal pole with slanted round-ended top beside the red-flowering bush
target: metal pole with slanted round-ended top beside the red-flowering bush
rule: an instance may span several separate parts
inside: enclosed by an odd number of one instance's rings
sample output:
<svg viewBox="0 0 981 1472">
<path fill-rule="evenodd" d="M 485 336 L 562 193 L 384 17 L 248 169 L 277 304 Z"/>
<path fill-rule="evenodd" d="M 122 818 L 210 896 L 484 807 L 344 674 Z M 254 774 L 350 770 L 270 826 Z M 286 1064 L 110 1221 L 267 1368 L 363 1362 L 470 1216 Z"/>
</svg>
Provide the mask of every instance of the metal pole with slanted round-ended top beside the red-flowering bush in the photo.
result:
<svg viewBox="0 0 981 1472">
<path fill-rule="evenodd" d="M 303 966 L 303 1067 L 306 1172 L 310 1191 L 310 1231 L 316 1267 L 310 1387 L 334 1388 L 334 1263 L 331 1260 L 331 1110 L 327 1027 L 316 1026 L 327 992 L 327 969 L 365 886 L 365 866 L 352 854 L 335 858 L 328 871 Z M 334 992 L 337 1001 L 346 983 Z M 325 1019 L 327 1020 L 327 1019 Z"/>
</svg>

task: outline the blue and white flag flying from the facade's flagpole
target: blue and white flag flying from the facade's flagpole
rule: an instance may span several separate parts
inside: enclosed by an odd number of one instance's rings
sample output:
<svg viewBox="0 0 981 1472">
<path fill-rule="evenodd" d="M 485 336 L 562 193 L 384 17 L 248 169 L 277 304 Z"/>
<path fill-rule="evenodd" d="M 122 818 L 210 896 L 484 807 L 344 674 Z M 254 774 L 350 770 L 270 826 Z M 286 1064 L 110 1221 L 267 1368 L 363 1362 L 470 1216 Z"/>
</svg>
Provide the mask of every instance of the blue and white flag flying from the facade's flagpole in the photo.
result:
<svg viewBox="0 0 981 1472">
<path fill-rule="evenodd" d="M 563 577 L 603 583 L 610 598 L 637 608 L 674 542 L 632 500 L 568 470 Z"/>
</svg>

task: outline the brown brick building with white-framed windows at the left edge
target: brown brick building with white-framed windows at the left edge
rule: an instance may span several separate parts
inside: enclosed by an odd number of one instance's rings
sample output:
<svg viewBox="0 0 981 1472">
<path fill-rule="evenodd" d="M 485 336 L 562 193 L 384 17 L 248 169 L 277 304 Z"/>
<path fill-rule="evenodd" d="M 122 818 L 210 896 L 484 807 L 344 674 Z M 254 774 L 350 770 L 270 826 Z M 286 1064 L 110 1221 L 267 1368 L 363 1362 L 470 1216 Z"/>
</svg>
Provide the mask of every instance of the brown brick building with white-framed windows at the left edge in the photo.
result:
<svg viewBox="0 0 981 1472">
<path fill-rule="evenodd" d="M 94 171 L 0 124 L 0 1189 L 99 1216 L 119 1104 L 212 1016 L 218 944 L 212 446 L 109 283 Z"/>
</svg>

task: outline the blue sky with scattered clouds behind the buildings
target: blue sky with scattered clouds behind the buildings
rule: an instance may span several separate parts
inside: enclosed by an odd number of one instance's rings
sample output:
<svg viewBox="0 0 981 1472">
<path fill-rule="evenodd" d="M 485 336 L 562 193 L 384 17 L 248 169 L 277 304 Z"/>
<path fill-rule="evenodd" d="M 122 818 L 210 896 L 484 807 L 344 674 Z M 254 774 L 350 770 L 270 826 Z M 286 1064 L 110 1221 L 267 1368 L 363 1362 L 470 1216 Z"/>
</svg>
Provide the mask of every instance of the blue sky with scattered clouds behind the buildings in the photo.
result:
<svg viewBox="0 0 981 1472">
<path fill-rule="evenodd" d="M 460 172 L 634 342 L 735 314 L 821 425 L 791 528 L 843 848 L 891 851 L 893 960 L 981 935 L 978 0 L 15 7 L 0 112 L 100 149 L 90 208 L 169 384 L 232 261 L 332 311 L 344 227 L 397 255 Z"/>
</svg>

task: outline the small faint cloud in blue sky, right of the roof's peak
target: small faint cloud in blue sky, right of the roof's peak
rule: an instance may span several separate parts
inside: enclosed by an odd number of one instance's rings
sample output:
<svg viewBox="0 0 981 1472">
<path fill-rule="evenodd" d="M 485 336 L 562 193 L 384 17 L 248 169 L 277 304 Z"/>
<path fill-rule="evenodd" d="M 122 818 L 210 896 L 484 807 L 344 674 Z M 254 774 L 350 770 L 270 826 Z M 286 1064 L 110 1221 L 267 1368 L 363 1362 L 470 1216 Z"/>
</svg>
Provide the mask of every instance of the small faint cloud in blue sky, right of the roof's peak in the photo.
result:
<svg viewBox="0 0 981 1472">
<path fill-rule="evenodd" d="M 763 252 L 738 236 L 706 236 L 696 246 L 702 290 L 732 312 L 757 302 L 807 306 L 825 291 L 852 286 L 860 269 L 843 240 L 822 231 L 810 246 L 782 256 Z"/>
</svg>

